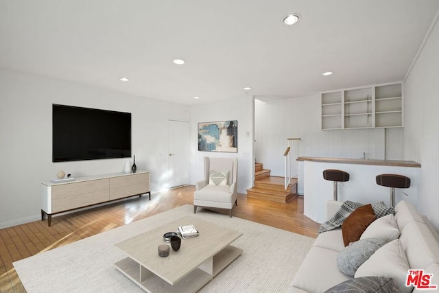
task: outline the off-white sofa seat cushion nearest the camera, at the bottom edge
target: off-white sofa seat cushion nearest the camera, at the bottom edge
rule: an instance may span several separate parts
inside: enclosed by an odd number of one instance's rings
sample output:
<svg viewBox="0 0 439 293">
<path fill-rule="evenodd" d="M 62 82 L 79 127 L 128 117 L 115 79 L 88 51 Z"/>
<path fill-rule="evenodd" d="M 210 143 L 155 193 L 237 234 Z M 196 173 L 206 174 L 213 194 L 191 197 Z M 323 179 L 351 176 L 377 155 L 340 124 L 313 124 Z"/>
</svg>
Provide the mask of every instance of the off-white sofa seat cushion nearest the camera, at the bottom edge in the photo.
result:
<svg viewBox="0 0 439 293">
<path fill-rule="evenodd" d="M 338 252 L 334 250 L 311 247 L 294 276 L 292 287 L 306 292 L 324 292 L 338 283 L 352 279 L 338 270 L 337 255 Z"/>
</svg>

